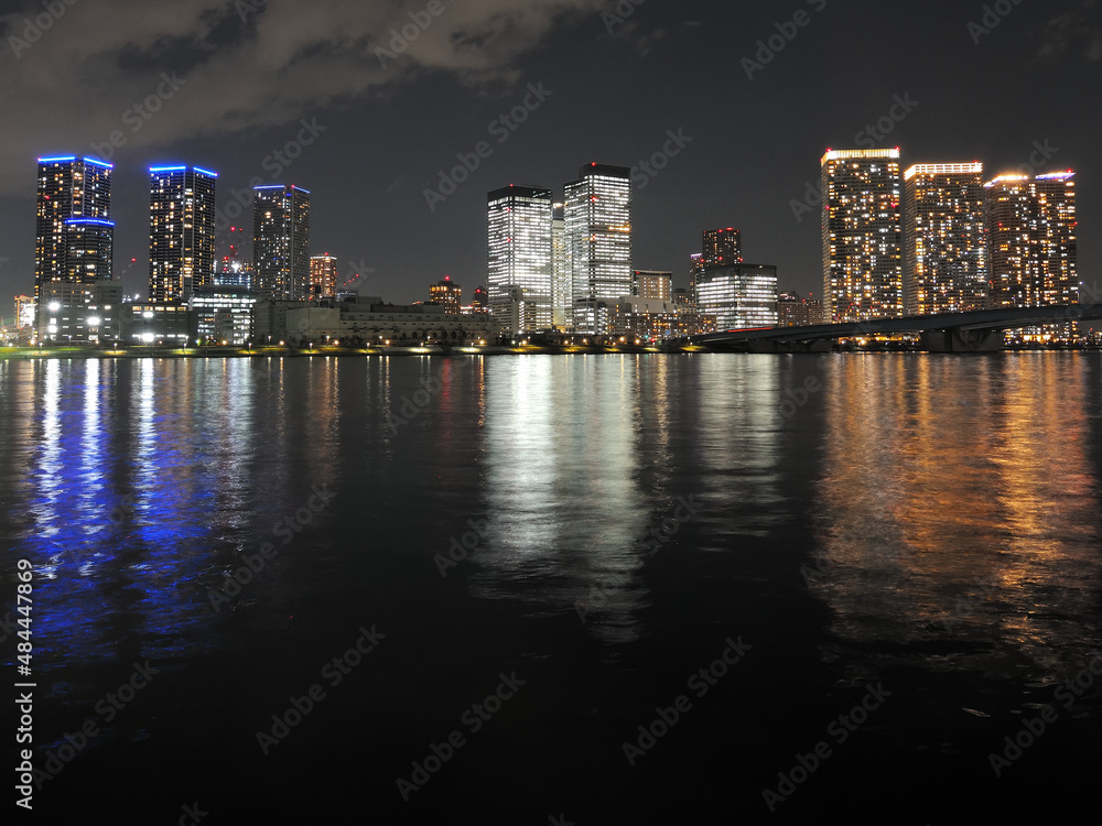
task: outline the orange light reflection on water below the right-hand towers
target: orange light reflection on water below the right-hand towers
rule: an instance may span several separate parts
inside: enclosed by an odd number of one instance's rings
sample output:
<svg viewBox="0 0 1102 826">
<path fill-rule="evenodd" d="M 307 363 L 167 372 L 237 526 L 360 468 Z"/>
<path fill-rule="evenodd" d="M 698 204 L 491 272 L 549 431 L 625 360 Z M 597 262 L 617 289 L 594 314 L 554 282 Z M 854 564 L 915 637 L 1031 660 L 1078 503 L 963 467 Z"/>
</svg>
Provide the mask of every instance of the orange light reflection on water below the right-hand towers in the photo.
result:
<svg viewBox="0 0 1102 826">
<path fill-rule="evenodd" d="M 824 395 L 814 519 L 828 656 L 1041 683 L 1098 649 L 1092 356 L 847 358 Z"/>
</svg>

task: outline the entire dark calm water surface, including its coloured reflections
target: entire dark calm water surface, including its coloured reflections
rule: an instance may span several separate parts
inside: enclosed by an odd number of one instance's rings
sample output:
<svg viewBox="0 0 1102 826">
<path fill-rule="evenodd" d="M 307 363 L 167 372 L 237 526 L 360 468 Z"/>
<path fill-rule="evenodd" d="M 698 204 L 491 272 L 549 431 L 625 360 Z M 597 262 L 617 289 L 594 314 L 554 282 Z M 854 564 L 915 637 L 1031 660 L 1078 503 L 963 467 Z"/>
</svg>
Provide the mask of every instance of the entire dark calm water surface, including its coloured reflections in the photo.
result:
<svg viewBox="0 0 1102 826">
<path fill-rule="evenodd" d="M 33 562 L 36 760 L 98 727 L 35 814 L 1074 812 L 1102 735 L 1100 377 L 1079 354 L 0 361 L 3 600 Z M 869 686 L 886 698 L 840 742 Z M 996 776 L 990 754 L 1046 709 Z M 763 791 L 821 742 L 770 812 Z"/>
</svg>

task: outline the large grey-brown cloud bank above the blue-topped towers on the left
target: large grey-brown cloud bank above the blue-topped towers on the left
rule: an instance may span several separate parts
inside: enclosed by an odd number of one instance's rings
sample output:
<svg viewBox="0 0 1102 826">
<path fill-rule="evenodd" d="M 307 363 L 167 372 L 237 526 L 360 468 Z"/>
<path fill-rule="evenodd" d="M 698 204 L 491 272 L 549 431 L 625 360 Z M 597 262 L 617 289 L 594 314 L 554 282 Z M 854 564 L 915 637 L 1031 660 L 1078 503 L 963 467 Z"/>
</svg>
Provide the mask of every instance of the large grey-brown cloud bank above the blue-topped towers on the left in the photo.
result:
<svg viewBox="0 0 1102 826">
<path fill-rule="evenodd" d="M 445 72 L 467 84 L 515 77 L 518 55 L 599 0 L 98 0 L 39 3 L 0 18 L 9 116 L 0 192 L 29 159 L 121 133 L 131 146 L 278 126 Z M 433 13 L 435 12 L 435 13 Z M 48 23 L 42 26 L 41 23 Z M 176 78 L 166 85 L 165 78 Z M 158 99 L 160 98 L 160 99 Z M 149 111 L 155 108 L 155 111 Z M 64 140 L 55 132 L 65 113 Z M 147 118 L 147 115 L 149 116 Z M 79 149 L 77 149 L 79 151 Z"/>
</svg>

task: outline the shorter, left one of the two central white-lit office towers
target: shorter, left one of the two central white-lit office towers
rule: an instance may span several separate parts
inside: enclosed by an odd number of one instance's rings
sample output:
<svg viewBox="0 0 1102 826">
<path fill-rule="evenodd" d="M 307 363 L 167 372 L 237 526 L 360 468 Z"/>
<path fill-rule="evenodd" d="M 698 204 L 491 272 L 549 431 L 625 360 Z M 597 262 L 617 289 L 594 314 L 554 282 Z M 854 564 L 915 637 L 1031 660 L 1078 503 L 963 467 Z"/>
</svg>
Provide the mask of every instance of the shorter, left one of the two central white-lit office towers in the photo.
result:
<svg viewBox="0 0 1102 826">
<path fill-rule="evenodd" d="M 489 221 L 489 303 L 510 335 L 550 329 L 553 320 L 551 191 L 506 186 L 487 194 Z M 523 302 L 518 316 L 512 307 Z M 522 322 L 517 319 L 522 318 Z M 521 327 L 507 329 L 512 323 Z"/>
</svg>

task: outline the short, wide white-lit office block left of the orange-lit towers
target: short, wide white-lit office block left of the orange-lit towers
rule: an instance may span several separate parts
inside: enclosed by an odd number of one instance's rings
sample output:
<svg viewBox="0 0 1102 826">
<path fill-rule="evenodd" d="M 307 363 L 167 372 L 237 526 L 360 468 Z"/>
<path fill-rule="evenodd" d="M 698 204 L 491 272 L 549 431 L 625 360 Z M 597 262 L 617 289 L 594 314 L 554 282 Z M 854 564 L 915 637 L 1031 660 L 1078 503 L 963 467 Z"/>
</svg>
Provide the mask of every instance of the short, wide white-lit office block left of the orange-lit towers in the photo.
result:
<svg viewBox="0 0 1102 826">
<path fill-rule="evenodd" d="M 696 282 L 696 296 L 700 312 L 714 315 L 721 330 L 777 326 L 776 267 L 710 267 Z"/>
</svg>

